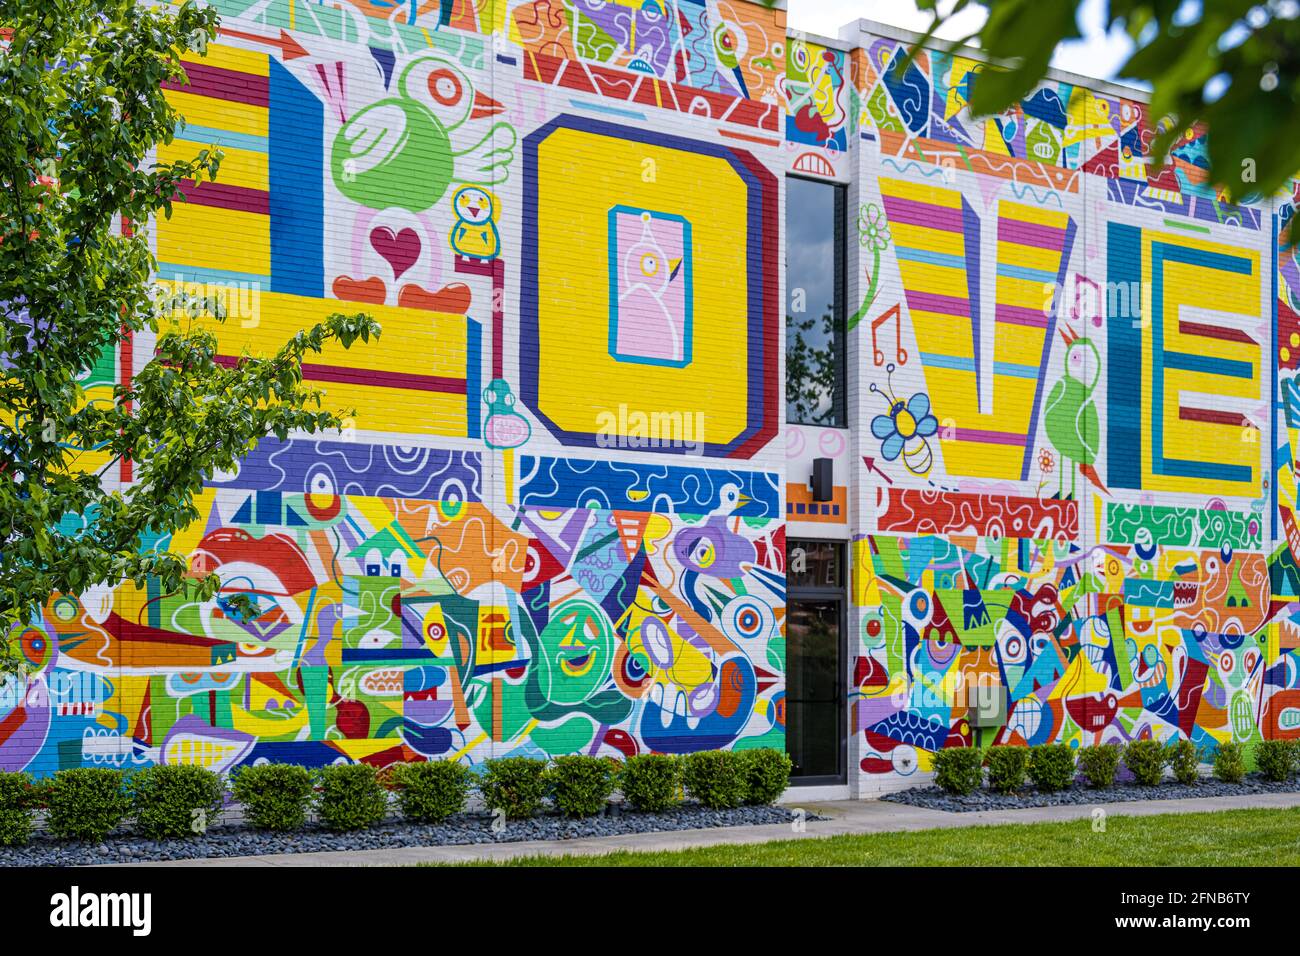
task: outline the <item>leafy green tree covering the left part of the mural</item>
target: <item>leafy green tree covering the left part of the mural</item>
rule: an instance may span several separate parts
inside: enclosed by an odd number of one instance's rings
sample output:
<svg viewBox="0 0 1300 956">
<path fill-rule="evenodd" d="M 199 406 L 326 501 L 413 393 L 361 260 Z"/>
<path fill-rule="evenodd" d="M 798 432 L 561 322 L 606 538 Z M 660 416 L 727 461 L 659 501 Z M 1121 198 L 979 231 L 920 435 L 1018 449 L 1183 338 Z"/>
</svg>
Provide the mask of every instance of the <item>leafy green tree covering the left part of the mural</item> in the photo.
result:
<svg viewBox="0 0 1300 956">
<path fill-rule="evenodd" d="M 179 120 L 162 83 L 183 82 L 181 56 L 216 36 L 211 9 L 0 0 L 0 23 L 4 674 L 23 669 L 14 637 L 58 593 L 153 576 L 166 592 L 211 600 L 218 579 L 153 542 L 198 520 L 204 479 L 260 438 L 341 427 L 303 384 L 303 358 L 380 328 L 333 315 L 273 355 L 231 364 L 212 333 L 220 303 L 160 295 L 152 282 L 142 226 L 169 216 L 183 185 L 216 177 L 221 160 L 203 150 L 150 161 Z M 110 402 L 88 401 L 87 375 L 139 333 L 155 333 L 156 355 Z M 116 488 L 108 475 L 122 459 L 134 481 Z M 252 613 L 246 598 L 230 607 Z"/>
</svg>

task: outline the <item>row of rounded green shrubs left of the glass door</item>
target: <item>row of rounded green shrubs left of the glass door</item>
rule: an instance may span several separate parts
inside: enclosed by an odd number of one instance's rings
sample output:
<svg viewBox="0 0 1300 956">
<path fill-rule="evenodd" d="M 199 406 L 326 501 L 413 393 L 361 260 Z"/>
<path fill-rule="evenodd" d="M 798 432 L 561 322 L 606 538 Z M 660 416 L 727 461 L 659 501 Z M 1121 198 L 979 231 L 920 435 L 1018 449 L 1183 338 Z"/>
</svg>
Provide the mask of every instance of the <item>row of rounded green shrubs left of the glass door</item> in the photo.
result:
<svg viewBox="0 0 1300 956">
<path fill-rule="evenodd" d="M 402 814 L 437 823 L 464 809 L 477 787 L 490 810 L 526 819 L 549 797 L 569 817 L 604 810 L 618 790 L 636 810 L 662 813 L 686 793 L 710 809 L 771 804 L 785 791 L 790 760 L 781 750 L 707 750 L 684 757 L 642 754 L 625 761 L 568 756 L 554 761 L 502 757 L 482 773 L 454 761 L 395 763 L 376 770 L 347 763 L 307 770 L 292 763 L 237 767 L 229 782 L 198 766 L 159 765 L 121 771 L 60 770 L 34 782 L 25 773 L 0 773 L 0 844 L 26 843 L 34 813 L 57 838 L 103 840 L 127 819 L 150 839 L 191 836 L 217 819 L 229 793 L 259 830 L 290 831 L 315 812 L 329 830 L 361 830 L 389 813 L 390 793 Z"/>
</svg>

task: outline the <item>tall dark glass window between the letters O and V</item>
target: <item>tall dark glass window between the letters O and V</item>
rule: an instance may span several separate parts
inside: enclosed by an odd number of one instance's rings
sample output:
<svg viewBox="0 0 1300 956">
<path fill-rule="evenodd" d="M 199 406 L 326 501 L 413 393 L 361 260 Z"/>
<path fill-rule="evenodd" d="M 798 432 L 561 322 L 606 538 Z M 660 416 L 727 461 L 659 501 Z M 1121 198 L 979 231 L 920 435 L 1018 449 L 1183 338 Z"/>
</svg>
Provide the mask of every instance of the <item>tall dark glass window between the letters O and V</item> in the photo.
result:
<svg viewBox="0 0 1300 956">
<path fill-rule="evenodd" d="M 845 187 L 785 181 L 785 418 L 846 425 Z"/>
</svg>

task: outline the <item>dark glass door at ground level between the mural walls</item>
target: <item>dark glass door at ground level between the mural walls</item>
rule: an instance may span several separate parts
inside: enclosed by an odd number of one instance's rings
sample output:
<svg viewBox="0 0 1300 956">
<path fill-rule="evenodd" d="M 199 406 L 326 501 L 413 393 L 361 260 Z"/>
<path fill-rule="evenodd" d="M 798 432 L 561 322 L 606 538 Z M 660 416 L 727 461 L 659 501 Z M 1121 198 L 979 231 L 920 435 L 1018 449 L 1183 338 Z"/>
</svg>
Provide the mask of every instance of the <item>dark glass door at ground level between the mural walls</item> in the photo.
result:
<svg viewBox="0 0 1300 956">
<path fill-rule="evenodd" d="M 844 546 L 790 541 L 785 609 L 785 749 L 792 783 L 842 783 L 848 706 Z"/>
</svg>

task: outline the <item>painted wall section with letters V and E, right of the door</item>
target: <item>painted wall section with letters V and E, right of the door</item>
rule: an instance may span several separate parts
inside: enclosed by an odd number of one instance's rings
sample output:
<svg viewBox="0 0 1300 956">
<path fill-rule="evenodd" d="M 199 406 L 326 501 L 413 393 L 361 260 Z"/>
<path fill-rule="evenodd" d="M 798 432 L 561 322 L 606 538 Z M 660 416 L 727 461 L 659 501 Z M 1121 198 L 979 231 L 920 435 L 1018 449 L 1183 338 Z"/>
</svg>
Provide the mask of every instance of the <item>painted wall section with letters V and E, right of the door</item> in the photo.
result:
<svg viewBox="0 0 1300 956">
<path fill-rule="evenodd" d="M 854 72 L 863 780 L 972 743 L 1295 735 L 1269 204 L 1205 186 L 1199 130 L 1157 170 L 1140 103 L 1049 83 L 976 121 L 975 62 L 901 52 Z"/>
</svg>

